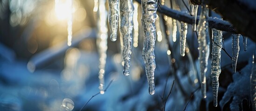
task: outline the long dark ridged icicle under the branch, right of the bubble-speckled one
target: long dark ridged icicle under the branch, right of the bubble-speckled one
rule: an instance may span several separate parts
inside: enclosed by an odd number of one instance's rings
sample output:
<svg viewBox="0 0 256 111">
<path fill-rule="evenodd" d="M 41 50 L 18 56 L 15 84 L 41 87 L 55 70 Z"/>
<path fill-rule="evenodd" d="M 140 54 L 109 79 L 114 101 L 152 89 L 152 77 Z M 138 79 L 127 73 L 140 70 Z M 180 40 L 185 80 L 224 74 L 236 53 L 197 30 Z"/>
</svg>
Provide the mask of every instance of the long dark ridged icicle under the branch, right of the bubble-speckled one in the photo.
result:
<svg viewBox="0 0 256 111">
<path fill-rule="evenodd" d="M 214 95 L 214 106 L 218 105 L 218 89 L 219 89 L 219 76 L 221 74 L 221 48 L 222 48 L 222 31 L 212 29 L 212 87 Z"/>
</svg>

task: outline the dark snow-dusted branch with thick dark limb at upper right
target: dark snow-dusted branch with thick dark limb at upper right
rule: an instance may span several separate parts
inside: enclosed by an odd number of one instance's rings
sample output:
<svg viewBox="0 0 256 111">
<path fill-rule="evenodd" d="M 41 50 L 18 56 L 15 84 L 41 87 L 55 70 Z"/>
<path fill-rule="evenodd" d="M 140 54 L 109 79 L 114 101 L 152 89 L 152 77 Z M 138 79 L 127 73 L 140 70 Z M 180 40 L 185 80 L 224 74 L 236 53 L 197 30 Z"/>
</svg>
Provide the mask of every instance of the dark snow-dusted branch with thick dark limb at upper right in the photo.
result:
<svg viewBox="0 0 256 111">
<path fill-rule="evenodd" d="M 141 0 L 136 1 L 141 3 Z M 200 0 L 190 0 L 192 4 L 201 4 L 199 1 Z M 221 31 L 239 33 L 256 42 L 256 10 L 250 9 L 249 6 L 242 4 L 238 0 L 207 0 L 206 3 L 209 5 L 210 9 L 221 14 L 223 19 L 227 19 L 234 25 L 232 26 L 225 20 L 209 17 L 209 27 Z M 186 12 L 176 11 L 162 5 L 159 5 L 158 12 L 173 19 L 192 24 L 192 17 Z M 197 21 L 198 20 L 199 17 L 197 17 Z"/>
</svg>

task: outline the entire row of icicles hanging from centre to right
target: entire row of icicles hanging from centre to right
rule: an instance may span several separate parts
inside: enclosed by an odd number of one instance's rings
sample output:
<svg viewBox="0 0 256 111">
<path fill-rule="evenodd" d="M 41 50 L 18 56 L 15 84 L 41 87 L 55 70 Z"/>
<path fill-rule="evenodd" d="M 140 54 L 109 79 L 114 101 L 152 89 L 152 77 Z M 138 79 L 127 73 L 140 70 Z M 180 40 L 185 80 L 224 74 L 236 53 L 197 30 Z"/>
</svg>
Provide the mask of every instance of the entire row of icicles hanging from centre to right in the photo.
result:
<svg viewBox="0 0 256 111">
<path fill-rule="evenodd" d="M 105 12 L 105 0 L 94 0 L 95 7 L 94 12 L 97 13 L 98 24 L 98 46 L 100 55 L 100 71 L 99 79 L 100 86 L 99 89 L 101 93 L 104 93 L 104 68 L 106 62 L 106 50 L 107 50 L 107 25 L 106 25 L 106 15 Z M 141 23 L 144 33 L 144 46 L 142 51 L 142 57 L 145 62 L 145 72 L 149 85 L 149 93 L 152 95 L 155 93 L 154 89 L 154 72 L 156 68 L 154 47 L 156 41 L 156 26 L 155 21 L 157 18 L 157 0 L 141 0 L 142 6 L 142 17 Z M 199 62 L 200 62 L 200 74 L 201 74 L 201 92 L 202 97 L 206 98 L 206 72 L 208 66 L 209 57 L 209 44 L 210 38 L 208 34 L 208 6 L 201 6 L 201 14 L 198 25 L 196 25 L 196 17 L 198 5 L 193 5 L 190 3 L 190 15 L 193 17 L 193 31 L 198 31 L 198 49 L 199 49 Z M 134 5 L 132 0 L 109 0 L 109 26 L 111 31 L 111 41 L 117 40 L 118 26 L 120 30 L 120 41 L 123 41 L 123 59 L 124 59 L 124 75 L 129 75 L 130 71 L 130 59 L 131 59 L 131 41 L 132 41 L 132 30 L 134 30 L 134 40 L 136 41 L 133 46 L 138 46 L 138 20 L 137 17 L 133 17 L 135 10 L 135 16 L 138 15 L 138 4 Z M 133 21 L 135 20 L 135 25 Z M 166 19 L 165 19 L 166 20 Z M 175 19 L 172 19 L 173 25 L 173 42 L 176 41 L 177 33 L 177 23 Z M 134 27 L 135 26 L 135 27 Z M 220 58 L 221 58 L 221 48 L 222 48 L 222 31 L 212 29 L 213 31 L 213 48 L 212 48 L 212 86 L 214 94 L 214 106 L 217 106 L 217 95 L 219 82 L 218 78 L 221 73 Z M 232 68 L 233 73 L 236 71 L 236 63 L 239 52 L 239 34 L 233 34 L 232 43 Z M 185 56 L 186 49 L 186 37 L 187 37 L 187 23 L 180 22 L 180 54 Z M 247 37 L 244 37 L 244 50 L 246 50 Z"/>
</svg>

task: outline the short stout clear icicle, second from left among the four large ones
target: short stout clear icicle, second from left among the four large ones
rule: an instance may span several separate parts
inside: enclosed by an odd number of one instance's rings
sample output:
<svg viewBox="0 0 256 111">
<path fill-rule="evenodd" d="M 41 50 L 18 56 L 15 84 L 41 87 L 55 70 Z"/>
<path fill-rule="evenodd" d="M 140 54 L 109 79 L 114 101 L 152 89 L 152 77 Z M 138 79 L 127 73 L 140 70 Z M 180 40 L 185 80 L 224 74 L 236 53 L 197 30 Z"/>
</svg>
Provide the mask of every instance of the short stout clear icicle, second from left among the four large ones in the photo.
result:
<svg viewBox="0 0 256 111">
<path fill-rule="evenodd" d="M 117 40 L 118 31 L 118 19 L 119 19 L 119 0 L 109 0 L 109 26 L 111 41 Z"/>
</svg>

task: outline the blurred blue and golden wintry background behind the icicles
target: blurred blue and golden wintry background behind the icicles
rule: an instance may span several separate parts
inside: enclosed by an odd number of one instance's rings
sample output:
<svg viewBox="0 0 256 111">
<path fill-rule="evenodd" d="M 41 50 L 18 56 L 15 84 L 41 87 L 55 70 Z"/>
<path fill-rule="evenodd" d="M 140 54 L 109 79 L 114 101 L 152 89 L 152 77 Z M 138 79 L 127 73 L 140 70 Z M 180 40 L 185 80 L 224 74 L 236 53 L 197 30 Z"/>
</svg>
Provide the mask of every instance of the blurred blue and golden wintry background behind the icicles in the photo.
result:
<svg viewBox="0 0 256 111">
<path fill-rule="evenodd" d="M 175 10 L 187 11 L 188 1 L 185 4 L 181 0 L 173 1 Z M 99 92 L 98 20 L 93 12 L 94 0 L 73 0 L 73 39 L 70 47 L 67 45 L 67 2 L 68 0 L 0 0 L 1 111 L 79 111 Z M 213 106 L 210 57 L 207 72 L 208 98 L 201 98 L 200 81 L 197 79 L 198 45 L 192 26 L 188 25 L 186 56 L 182 57 L 179 21 L 177 20 L 177 41 L 173 42 L 172 37 L 166 36 L 163 28 L 164 16 L 160 13 L 156 22 L 156 93 L 148 93 L 141 57 L 141 6 L 136 1 L 134 3 L 137 6 L 135 9 L 138 9 L 138 34 L 135 34 L 138 36 L 138 44 L 135 43 L 132 47 L 131 74 L 123 75 L 119 36 L 116 42 L 108 38 L 104 81 L 105 87 L 110 86 L 103 95 L 93 97 L 82 111 L 182 111 L 186 105 L 186 111 L 229 110 L 229 99 L 222 107 Z M 170 5 L 170 1 L 166 1 L 166 4 Z M 107 3 L 106 7 L 108 10 Z M 210 16 L 220 18 L 212 11 Z M 173 25 L 169 27 L 172 35 Z M 108 35 L 110 37 L 110 32 Z M 228 56 L 232 55 L 232 36 L 224 32 L 223 37 L 227 53 L 221 51 L 219 101 L 233 82 L 231 59 Z M 168 49 L 168 44 L 172 49 Z M 243 51 L 242 47 L 240 37 L 238 70 L 247 66 L 255 43 L 248 39 L 248 50 Z M 109 84 L 111 81 L 113 82 Z M 190 103 L 187 104 L 189 100 Z M 69 110 L 62 109 L 62 105 L 67 103 Z"/>
</svg>

